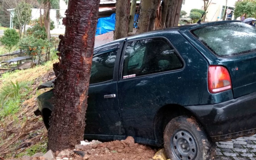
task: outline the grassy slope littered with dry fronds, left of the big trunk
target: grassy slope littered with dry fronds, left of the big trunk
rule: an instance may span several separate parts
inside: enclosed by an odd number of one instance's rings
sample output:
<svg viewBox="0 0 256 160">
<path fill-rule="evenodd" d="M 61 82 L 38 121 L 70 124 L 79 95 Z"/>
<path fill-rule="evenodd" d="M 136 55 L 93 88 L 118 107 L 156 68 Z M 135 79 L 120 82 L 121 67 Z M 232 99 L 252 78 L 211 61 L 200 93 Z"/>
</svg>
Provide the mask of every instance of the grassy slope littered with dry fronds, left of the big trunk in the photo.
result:
<svg viewBox="0 0 256 160">
<path fill-rule="evenodd" d="M 28 86 L 20 93 L 22 98 L 17 103 L 0 105 L 0 158 L 19 158 L 38 151 L 46 152 L 47 130 L 42 118 L 35 116 L 34 111 L 37 109 L 36 97 L 47 89 L 37 91 L 36 88 L 55 78 L 52 70 L 55 61 L 1 75 L 0 91 L 10 81 L 25 81 Z"/>
</svg>

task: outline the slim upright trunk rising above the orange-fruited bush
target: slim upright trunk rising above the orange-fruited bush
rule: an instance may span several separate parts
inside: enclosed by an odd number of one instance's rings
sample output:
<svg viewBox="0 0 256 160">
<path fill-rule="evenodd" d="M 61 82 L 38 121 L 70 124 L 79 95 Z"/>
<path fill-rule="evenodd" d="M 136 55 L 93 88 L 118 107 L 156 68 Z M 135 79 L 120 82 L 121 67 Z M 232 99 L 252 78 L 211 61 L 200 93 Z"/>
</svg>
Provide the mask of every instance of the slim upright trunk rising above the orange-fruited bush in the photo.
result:
<svg viewBox="0 0 256 160">
<path fill-rule="evenodd" d="M 51 35 L 50 35 L 50 9 L 51 9 L 51 4 L 50 1 L 45 1 L 44 4 L 44 24 L 45 24 L 45 31 L 47 34 L 47 39 L 50 40 Z"/>
</svg>

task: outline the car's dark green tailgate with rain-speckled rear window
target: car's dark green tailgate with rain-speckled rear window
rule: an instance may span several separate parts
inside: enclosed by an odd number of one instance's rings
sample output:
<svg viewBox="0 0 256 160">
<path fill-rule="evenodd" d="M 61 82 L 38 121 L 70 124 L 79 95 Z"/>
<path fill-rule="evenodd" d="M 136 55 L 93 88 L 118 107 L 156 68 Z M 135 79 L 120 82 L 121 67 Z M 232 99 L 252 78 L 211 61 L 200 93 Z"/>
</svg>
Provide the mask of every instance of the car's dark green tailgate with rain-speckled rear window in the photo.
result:
<svg viewBox="0 0 256 160">
<path fill-rule="evenodd" d="M 196 28 L 191 33 L 201 42 L 195 45 L 210 65 L 223 65 L 229 70 L 234 98 L 256 91 L 255 27 L 237 21 Z"/>
</svg>

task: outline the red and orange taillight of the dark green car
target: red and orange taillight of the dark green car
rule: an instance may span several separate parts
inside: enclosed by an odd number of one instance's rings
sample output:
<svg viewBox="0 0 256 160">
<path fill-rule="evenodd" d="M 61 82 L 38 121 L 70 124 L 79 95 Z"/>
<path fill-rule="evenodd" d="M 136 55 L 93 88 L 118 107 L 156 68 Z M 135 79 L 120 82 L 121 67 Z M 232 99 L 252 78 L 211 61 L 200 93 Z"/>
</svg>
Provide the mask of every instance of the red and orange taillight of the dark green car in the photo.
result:
<svg viewBox="0 0 256 160">
<path fill-rule="evenodd" d="M 231 78 L 225 67 L 209 66 L 208 89 L 210 93 L 219 93 L 232 89 Z"/>
</svg>

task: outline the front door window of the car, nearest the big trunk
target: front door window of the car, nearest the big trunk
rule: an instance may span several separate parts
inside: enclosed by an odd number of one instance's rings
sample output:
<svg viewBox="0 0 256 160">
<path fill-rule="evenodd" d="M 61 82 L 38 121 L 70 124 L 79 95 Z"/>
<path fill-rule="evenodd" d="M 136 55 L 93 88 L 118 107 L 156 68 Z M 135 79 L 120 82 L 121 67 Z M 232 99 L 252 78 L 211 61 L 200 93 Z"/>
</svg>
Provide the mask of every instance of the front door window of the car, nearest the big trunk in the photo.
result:
<svg viewBox="0 0 256 160">
<path fill-rule="evenodd" d="M 117 49 L 99 53 L 92 58 L 90 84 L 113 79 Z"/>
</svg>

